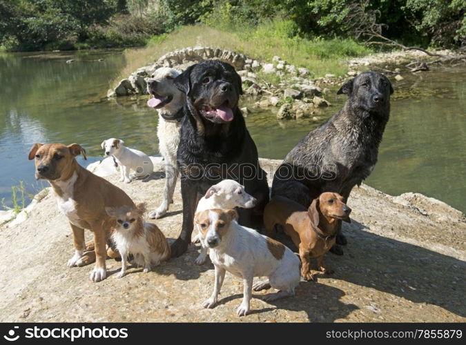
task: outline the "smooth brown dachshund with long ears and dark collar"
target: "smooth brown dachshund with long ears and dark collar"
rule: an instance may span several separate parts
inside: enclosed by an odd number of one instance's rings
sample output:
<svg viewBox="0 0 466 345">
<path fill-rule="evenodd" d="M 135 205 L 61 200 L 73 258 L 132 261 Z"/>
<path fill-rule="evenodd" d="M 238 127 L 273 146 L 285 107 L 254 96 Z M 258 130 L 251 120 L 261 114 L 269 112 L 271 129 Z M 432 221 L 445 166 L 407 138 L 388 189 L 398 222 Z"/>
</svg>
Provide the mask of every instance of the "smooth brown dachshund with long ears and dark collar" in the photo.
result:
<svg viewBox="0 0 466 345">
<path fill-rule="evenodd" d="M 338 219 L 351 222 L 349 208 L 338 193 L 322 193 L 306 210 L 304 206 L 286 197 L 273 197 L 264 210 L 264 225 L 267 236 L 273 237 L 276 224 L 283 226 L 299 249 L 301 275 L 314 280 L 309 266 L 311 257 L 317 259 L 318 270 L 331 274 L 333 270 L 324 266 L 324 254 L 335 244 Z"/>
</svg>

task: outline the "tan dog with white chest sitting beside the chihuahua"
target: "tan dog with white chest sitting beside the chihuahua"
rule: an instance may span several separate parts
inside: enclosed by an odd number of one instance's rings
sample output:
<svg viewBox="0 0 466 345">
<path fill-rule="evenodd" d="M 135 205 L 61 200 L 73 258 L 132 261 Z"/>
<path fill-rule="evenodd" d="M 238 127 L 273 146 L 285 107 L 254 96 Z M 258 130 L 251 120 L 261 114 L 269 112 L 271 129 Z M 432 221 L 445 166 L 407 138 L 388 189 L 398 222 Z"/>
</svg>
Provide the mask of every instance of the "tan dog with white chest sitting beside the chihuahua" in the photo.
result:
<svg viewBox="0 0 466 345">
<path fill-rule="evenodd" d="M 135 204 L 123 190 L 80 166 L 75 159 L 79 154 L 86 159 L 86 150 L 78 144 L 34 144 L 29 159 L 35 159 L 36 179 L 50 183 L 59 210 L 70 221 L 75 255 L 68 260 L 68 267 L 85 266 L 96 261 L 90 279 L 100 282 L 107 275 L 106 243 L 114 226 L 105 208 L 135 208 Z M 94 244 L 89 244 L 91 248 L 87 249 L 91 251 L 86 253 L 85 228 L 94 233 Z"/>
</svg>

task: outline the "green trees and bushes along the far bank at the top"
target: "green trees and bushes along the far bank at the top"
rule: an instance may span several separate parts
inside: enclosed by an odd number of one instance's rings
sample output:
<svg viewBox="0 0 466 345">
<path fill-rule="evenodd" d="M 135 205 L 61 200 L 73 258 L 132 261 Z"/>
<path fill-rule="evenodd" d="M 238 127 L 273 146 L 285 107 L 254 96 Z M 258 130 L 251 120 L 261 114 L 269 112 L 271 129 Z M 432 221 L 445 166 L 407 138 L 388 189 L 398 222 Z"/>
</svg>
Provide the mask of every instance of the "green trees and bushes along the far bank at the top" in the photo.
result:
<svg viewBox="0 0 466 345">
<path fill-rule="evenodd" d="M 400 43 L 458 47 L 466 44 L 464 1 L 0 0 L 0 46 L 4 50 L 142 46 L 153 35 L 204 23 L 250 41 L 289 40 L 293 46 L 308 39 L 319 50 L 316 39 L 355 39 L 356 28 L 369 27 L 369 19 L 375 18 L 382 24 L 382 34 Z M 347 43 L 345 48 L 355 49 Z M 336 55 L 341 54 L 358 52 Z"/>
</svg>

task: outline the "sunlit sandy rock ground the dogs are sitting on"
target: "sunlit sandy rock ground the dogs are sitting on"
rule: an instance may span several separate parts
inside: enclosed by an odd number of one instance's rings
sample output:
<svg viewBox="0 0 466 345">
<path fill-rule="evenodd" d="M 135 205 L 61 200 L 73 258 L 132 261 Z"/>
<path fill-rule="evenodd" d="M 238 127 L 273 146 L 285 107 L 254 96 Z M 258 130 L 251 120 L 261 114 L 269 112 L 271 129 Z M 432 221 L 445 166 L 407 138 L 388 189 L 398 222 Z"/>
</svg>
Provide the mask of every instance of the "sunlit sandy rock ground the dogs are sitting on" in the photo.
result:
<svg viewBox="0 0 466 345">
<path fill-rule="evenodd" d="M 273 171 L 278 163 L 263 160 L 262 166 Z M 161 200 L 160 171 L 131 184 L 107 178 L 149 208 Z M 213 288 L 213 265 L 194 264 L 198 246 L 151 273 L 130 268 L 122 279 L 115 275 L 120 263 L 108 259 L 109 277 L 97 284 L 88 279 L 92 266 L 66 267 L 71 230 L 48 193 L 25 221 L 0 226 L 0 321 L 465 322 L 465 215 L 423 195 L 391 197 L 365 185 L 348 204 L 344 255 L 326 256 L 336 273 L 301 282 L 295 297 L 271 304 L 255 293 L 251 314 L 240 318 L 242 282 L 229 273 L 220 303 L 202 308 Z M 168 215 L 155 223 L 173 241 L 181 221 L 178 185 Z"/>
</svg>

